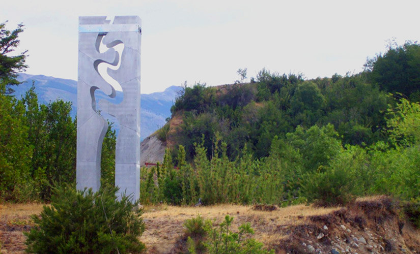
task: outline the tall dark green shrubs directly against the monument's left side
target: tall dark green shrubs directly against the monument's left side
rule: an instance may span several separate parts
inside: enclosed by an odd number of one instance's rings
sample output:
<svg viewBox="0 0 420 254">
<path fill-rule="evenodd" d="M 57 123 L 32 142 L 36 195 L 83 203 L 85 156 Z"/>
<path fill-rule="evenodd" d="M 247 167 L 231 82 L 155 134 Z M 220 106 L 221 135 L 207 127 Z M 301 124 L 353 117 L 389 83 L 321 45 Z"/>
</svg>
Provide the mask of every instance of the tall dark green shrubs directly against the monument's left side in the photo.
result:
<svg viewBox="0 0 420 254">
<path fill-rule="evenodd" d="M 74 182 L 76 178 L 76 122 L 70 116 L 71 103 L 58 100 L 39 105 L 34 84 L 21 101 L 33 150 L 28 167 L 37 195 L 48 201 L 53 183 Z"/>
</svg>

